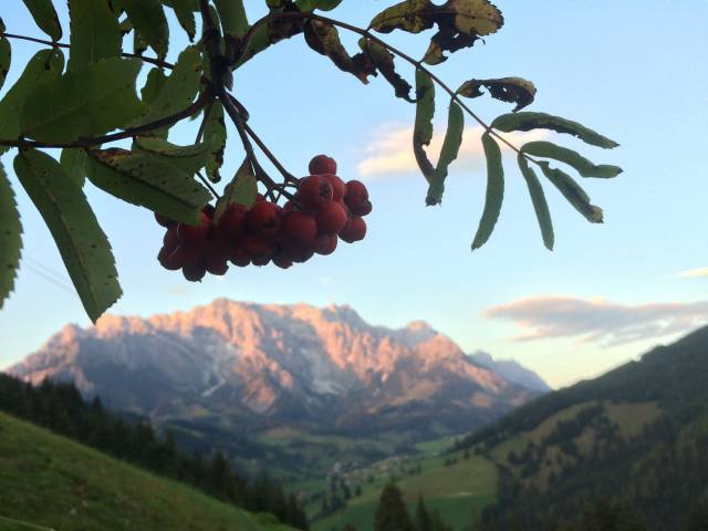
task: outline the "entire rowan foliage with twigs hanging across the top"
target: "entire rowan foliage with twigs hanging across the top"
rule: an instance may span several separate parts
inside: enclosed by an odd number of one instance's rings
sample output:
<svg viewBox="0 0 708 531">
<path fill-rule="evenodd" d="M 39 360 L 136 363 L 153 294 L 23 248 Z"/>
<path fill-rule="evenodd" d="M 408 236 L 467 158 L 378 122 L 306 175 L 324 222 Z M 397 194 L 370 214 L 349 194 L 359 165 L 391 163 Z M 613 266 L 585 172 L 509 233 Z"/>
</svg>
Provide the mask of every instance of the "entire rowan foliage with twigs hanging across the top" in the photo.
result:
<svg viewBox="0 0 708 531">
<path fill-rule="evenodd" d="M 258 187 L 240 186 L 244 175 L 256 179 L 269 200 L 298 204 L 294 190 L 299 179 L 250 126 L 249 113 L 232 92 L 231 80 L 235 70 L 263 50 L 301 34 L 310 49 L 342 72 L 364 84 L 381 75 L 395 96 L 415 105 L 413 150 L 429 185 L 427 205 L 442 200 L 450 165 L 464 139 L 465 116 L 483 127 L 488 184 L 472 249 L 488 241 L 501 211 L 504 171 L 500 143 L 517 152 L 549 249 L 554 242 L 553 226 L 533 167 L 595 223 L 602 222 L 602 209 L 590 202 L 569 174 L 551 164 L 562 163 L 585 178 L 612 178 L 621 173 L 616 166 L 596 165 L 551 142 L 517 147 L 504 138 L 504 133 L 550 129 L 603 148 L 617 146 L 575 122 L 520 112 L 535 95 L 530 81 L 513 76 L 470 79 L 452 90 L 433 73 L 431 66 L 502 28 L 501 11 L 489 0 L 439 4 L 406 0 L 385 8 L 367 28 L 329 17 L 326 12 L 343 0 L 266 0 L 268 14 L 253 21 L 243 0 L 69 0 L 69 28 L 62 27 L 52 0 L 23 1 L 46 38 L 8 32 L 0 19 L 0 87 L 11 67 L 11 41 L 31 41 L 41 48 L 0 98 L 0 153 L 18 150 L 14 170 L 19 183 L 44 218 L 94 321 L 117 300 L 121 287 L 111 246 L 83 192 L 86 179 L 107 194 L 183 223 L 197 225 L 211 201 L 216 201 L 217 211 L 225 211 L 230 204 L 253 204 Z M 170 18 L 190 43 L 179 51 L 175 64 L 165 59 L 175 43 Z M 427 30 L 433 34 L 420 60 L 379 37 Z M 341 31 L 360 35 L 355 53 L 342 43 Z M 66 34 L 67 43 L 62 42 Z M 415 69 L 414 80 L 400 72 L 402 62 Z M 140 72 L 147 75 L 139 76 Z M 137 82 L 143 79 L 138 91 Z M 442 148 L 433 164 L 427 152 L 434 133 L 436 87 L 450 100 Z M 485 93 L 514 105 L 513 111 L 486 123 L 466 102 Z M 215 185 L 221 179 L 227 147 L 232 148 L 227 117 L 236 126 L 237 149 L 242 150 L 244 160 L 220 195 Z M 197 131 L 192 145 L 168 142 L 173 126 L 194 118 Z M 113 145 L 126 139 L 132 139 L 129 149 Z M 278 169 L 278 178 L 263 169 L 256 148 Z M 52 150 L 58 150 L 58 158 L 49 155 Z M 248 194 L 233 194 L 235 189 Z M 13 289 L 22 247 L 20 214 L 2 168 L 0 225 L 1 306 Z"/>
</svg>

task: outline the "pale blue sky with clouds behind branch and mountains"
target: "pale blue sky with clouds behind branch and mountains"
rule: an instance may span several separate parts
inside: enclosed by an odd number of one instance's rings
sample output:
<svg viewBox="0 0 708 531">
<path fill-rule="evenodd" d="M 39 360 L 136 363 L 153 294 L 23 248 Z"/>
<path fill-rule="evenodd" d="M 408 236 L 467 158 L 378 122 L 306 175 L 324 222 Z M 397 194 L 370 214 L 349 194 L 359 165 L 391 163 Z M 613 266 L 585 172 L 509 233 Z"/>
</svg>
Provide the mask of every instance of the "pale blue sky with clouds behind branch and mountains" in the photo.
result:
<svg viewBox="0 0 708 531">
<path fill-rule="evenodd" d="M 244 3 L 252 20 L 264 12 L 261 0 Z M 365 27 L 392 3 L 347 0 L 330 14 Z M 163 231 L 150 212 L 87 184 L 124 290 L 111 312 L 147 316 L 219 296 L 348 304 L 373 324 L 427 321 L 466 352 L 514 358 L 555 387 L 708 323 L 708 2 L 496 3 L 506 18 L 501 31 L 435 72 L 452 86 L 472 77 L 527 77 L 538 87 L 528 110 L 579 121 L 617 140 L 621 147 L 603 150 L 568 135 L 531 134 L 624 168 L 616 179 L 581 183 L 604 209 L 604 225 L 587 223 L 544 186 L 555 227 L 555 249 L 545 250 L 525 184 L 507 156 L 501 218 L 491 240 L 471 252 L 486 187 L 479 127 L 467 121 L 442 205 L 426 207 L 426 183 L 409 153 L 414 107 L 395 98 L 384 80 L 363 85 L 296 37 L 239 70 L 235 94 L 292 173 L 305 175 L 310 158 L 325 153 L 337 159 L 341 177 L 367 184 L 374 211 L 366 239 L 287 271 L 232 268 L 225 278 L 188 283 L 157 263 Z M 20 2 L 3 2 L 0 15 L 8 32 L 42 37 Z M 174 59 L 186 39 L 177 25 L 171 34 Z M 427 37 L 395 32 L 385 39 L 421 56 Z M 343 35 L 352 51 L 356 40 Z M 12 45 L 4 91 L 39 49 Z M 413 80 L 413 70 L 397 64 Z M 437 134 L 448 103 L 438 97 Z M 510 111 L 487 96 L 468 103 L 487 119 Z M 188 144 L 194 133 L 191 125 L 179 127 L 170 140 Z M 227 176 L 243 155 L 230 138 Z M 510 139 L 524 142 L 521 135 Z M 49 231 L 17 181 L 12 154 L 2 163 L 18 196 L 24 249 L 15 291 L 0 310 L 0 367 L 67 323 L 90 325 Z"/>
</svg>

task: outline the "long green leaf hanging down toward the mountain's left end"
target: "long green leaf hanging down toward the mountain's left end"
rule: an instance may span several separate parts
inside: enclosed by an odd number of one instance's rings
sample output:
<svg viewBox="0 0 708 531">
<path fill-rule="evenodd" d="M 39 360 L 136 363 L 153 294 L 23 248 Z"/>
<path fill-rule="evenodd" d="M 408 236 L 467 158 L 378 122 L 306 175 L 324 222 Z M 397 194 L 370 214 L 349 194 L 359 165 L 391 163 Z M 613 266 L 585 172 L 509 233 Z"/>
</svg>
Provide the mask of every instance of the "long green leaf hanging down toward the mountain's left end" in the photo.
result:
<svg viewBox="0 0 708 531">
<path fill-rule="evenodd" d="M 14 158 L 14 171 L 44 218 L 81 302 L 95 323 L 122 291 L 111 244 L 84 192 L 56 160 L 37 149 L 20 153 Z"/>
</svg>

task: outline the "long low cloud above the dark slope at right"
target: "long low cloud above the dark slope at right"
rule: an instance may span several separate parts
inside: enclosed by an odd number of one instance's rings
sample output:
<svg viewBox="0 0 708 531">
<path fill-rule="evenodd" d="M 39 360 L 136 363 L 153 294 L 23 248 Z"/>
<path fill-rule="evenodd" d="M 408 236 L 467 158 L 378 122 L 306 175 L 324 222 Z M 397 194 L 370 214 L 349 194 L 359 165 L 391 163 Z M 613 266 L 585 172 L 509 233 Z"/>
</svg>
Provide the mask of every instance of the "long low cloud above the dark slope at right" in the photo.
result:
<svg viewBox="0 0 708 531">
<path fill-rule="evenodd" d="M 618 304 L 604 299 L 540 295 L 490 308 L 489 319 L 513 321 L 516 341 L 576 337 L 605 346 L 686 332 L 708 323 L 708 301 Z"/>
</svg>

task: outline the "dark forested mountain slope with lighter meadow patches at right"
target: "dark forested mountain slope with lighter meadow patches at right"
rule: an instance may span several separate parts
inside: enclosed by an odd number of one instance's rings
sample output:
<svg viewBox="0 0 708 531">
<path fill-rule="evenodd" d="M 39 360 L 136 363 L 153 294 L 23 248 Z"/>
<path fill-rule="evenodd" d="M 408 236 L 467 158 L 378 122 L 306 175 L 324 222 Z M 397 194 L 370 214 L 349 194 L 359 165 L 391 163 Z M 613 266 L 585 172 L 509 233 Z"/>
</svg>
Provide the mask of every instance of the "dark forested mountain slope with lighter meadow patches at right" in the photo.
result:
<svg viewBox="0 0 708 531">
<path fill-rule="evenodd" d="M 604 499 L 625 503 L 642 529 L 705 529 L 688 522 L 708 511 L 706 382 L 708 327 L 468 437 L 460 447 L 500 472 L 485 529 L 552 530 Z"/>
</svg>

